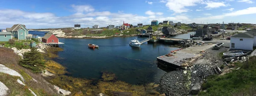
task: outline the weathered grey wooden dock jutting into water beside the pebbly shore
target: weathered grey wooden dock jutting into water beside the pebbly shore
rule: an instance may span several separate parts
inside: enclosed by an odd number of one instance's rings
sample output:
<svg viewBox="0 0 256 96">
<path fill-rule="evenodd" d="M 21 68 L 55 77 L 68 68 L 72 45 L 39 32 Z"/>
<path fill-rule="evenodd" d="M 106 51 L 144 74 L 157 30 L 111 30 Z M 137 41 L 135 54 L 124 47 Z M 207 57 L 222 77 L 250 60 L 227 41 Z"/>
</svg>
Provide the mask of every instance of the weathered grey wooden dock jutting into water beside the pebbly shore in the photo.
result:
<svg viewBox="0 0 256 96">
<path fill-rule="evenodd" d="M 212 48 L 213 46 L 214 44 L 198 47 L 188 47 L 186 49 L 177 51 L 175 54 L 170 53 L 171 56 L 169 57 L 166 55 L 157 57 L 157 63 L 170 68 L 179 68 L 181 64 L 184 63 L 183 59 L 199 57 L 201 56 L 201 51 L 205 51 L 206 49 Z"/>
</svg>

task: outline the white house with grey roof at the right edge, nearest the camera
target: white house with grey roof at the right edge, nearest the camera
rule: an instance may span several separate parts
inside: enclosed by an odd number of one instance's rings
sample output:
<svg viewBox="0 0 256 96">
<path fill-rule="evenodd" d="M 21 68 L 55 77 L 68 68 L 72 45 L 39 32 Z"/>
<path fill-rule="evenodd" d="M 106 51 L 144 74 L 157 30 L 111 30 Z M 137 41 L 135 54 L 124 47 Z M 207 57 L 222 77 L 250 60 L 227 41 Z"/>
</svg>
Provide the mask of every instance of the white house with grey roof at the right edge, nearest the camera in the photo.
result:
<svg viewBox="0 0 256 96">
<path fill-rule="evenodd" d="M 256 47 L 256 30 L 250 30 L 230 37 L 230 49 L 253 50 Z"/>
</svg>

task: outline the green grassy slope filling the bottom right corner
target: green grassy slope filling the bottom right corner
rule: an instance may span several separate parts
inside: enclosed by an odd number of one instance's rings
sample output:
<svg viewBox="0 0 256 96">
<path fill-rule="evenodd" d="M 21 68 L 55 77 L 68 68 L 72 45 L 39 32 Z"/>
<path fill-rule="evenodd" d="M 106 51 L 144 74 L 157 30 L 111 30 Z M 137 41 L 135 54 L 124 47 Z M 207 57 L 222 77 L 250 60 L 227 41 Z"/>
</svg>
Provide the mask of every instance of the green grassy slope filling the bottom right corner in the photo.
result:
<svg viewBox="0 0 256 96">
<path fill-rule="evenodd" d="M 222 76 L 213 75 L 207 78 L 207 82 L 202 85 L 201 96 L 252 96 L 256 92 L 256 57 L 251 57 L 249 61 L 237 63 L 239 70 L 233 70 Z M 253 93 L 254 92 L 254 93 Z"/>
</svg>

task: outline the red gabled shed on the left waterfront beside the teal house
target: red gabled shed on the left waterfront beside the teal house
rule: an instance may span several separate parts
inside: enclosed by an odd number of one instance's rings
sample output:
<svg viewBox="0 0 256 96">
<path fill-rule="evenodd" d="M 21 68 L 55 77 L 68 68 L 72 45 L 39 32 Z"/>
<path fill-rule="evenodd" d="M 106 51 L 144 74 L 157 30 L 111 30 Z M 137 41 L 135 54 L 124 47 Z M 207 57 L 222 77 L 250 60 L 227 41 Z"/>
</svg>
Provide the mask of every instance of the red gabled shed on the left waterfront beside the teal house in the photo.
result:
<svg viewBox="0 0 256 96">
<path fill-rule="evenodd" d="M 42 42 L 47 44 L 58 44 L 58 38 L 52 33 L 47 33 L 42 37 Z"/>
</svg>

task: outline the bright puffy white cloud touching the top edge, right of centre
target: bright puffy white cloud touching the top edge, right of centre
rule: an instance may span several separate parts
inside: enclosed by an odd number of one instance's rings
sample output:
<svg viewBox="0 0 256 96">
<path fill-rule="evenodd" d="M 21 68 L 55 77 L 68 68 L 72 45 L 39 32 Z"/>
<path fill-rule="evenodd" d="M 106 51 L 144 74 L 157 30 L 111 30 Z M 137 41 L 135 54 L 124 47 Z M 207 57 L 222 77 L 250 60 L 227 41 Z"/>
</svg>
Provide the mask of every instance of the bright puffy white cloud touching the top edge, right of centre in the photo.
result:
<svg viewBox="0 0 256 96">
<path fill-rule="evenodd" d="M 195 6 L 197 3 L 201 3 L 202 0 L 167 0 L 166 7 L 175 13 L 183 13 L 189 11 L 185 8 L 188 6 Z"/>
</svg>

